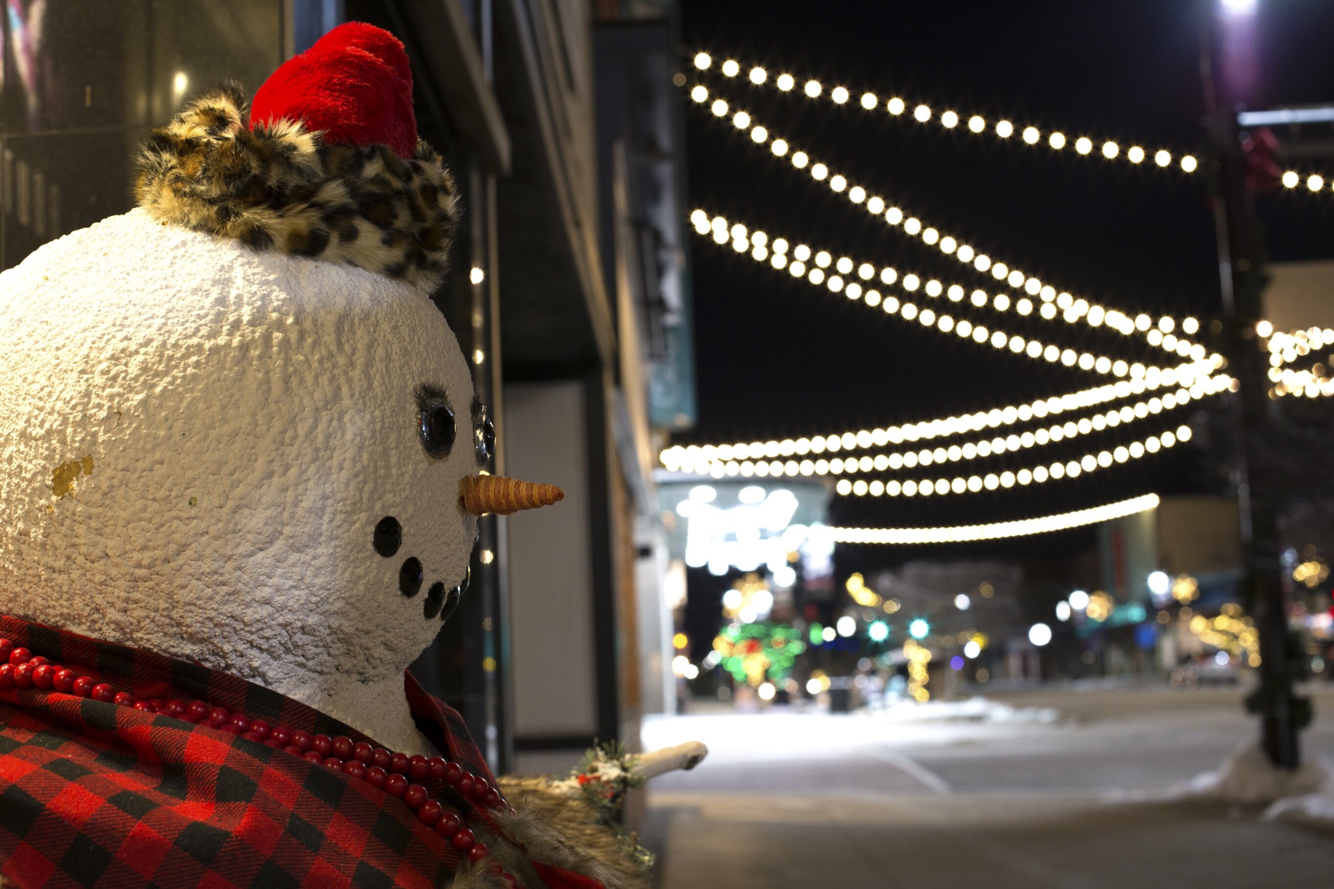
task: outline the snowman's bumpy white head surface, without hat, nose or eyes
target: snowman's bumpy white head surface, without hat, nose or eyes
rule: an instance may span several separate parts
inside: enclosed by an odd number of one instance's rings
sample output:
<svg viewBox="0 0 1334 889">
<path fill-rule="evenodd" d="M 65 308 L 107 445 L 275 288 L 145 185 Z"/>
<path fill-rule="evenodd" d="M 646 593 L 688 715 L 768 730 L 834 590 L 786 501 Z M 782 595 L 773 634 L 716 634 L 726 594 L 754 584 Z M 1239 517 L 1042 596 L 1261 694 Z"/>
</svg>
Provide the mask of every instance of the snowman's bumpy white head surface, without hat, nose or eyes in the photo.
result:
<svg viewBox="0 0 1334 889">
<path fill-rule="evenodd" d="M 0 273 L 0 612 L 308 702 L 402 688 L 476 529 L 472 383 L 424 292 L 136 209 Z M 444 458 L 422 385 L 458 419 Z"/>
</svg>

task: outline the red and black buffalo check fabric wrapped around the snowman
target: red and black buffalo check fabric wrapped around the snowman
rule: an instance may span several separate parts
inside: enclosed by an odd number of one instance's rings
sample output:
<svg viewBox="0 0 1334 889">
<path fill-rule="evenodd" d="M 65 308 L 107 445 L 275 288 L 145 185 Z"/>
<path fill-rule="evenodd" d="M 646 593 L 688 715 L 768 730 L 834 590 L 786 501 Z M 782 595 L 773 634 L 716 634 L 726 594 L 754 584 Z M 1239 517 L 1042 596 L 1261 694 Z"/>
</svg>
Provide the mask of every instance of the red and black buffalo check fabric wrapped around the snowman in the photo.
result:
<svg viewBox="0 0 1334 889">
<path fill-rule="evenodd" d="M 0 617 L 0 636 L 140 700 L 199 698 L 374 742 L 199 665 L 11 617 Z M 438 748 L 494 780 L 458 713 L 411 674 L 404 690 Z M 0 692 L 5 885 L 442 886 L 458 865 L 458 852 L 402 800 L 364 781 L 207 724 L 59 692 Z"/>
</svg>

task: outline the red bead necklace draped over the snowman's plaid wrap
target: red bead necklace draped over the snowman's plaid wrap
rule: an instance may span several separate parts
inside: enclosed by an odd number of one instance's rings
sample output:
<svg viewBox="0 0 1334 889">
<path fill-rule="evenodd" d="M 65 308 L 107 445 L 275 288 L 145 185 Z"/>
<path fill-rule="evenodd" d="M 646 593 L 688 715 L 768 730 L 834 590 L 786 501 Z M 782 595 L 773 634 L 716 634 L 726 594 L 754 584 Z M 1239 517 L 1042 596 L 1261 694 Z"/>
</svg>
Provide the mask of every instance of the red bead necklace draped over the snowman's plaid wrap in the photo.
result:
<svg viewBox="0 0 1334 889">
<path fill-rule="evenodd" d="M 418 821 L 435 828 L 450 845 L 478 862 L 491 850 L 484 842 L 463 826 L 458 813 L 446 812 L 439 801 L 431 800 L 419 781 L 435 778 L 458 790 L 466 800 L 490 809 L 506 809 L 507 804 L 500 790 L 479 774 L 463 770 L 458 762 L 444 757 L 422 754 L 407 756 L 392 753 L 366 741 L 354 742 L 347 736 L 329 737 L 292 729 L 283 724 L 272 725 L 268 720 L 249 718 L 239 710 L 224 706 L 211 706 L 205 701 L 185 704 L 177 700 L 139 701 L 129 692 L 116 692 L 107 682 L 99 682 L 91 676 L 80 676 L 72 669 L 52 664 L 40 654 L 33 656 L 27 648 L 15 646 L 8 638 L 0 638 L 0 689 L 40 689 L 77 694 L 95 701 L 132 706 L 136 710 L 173 716 L 187 722 L 207 722 L 215 729 L 228 732 L 247 741 L 257 741 L 292 756 L 299 756 L 315 765 L 323 765 L 331 772 L 342 772 L 352 778 L 366 781 L 384 790 L 416 813 Z M 491 865 L 491 872 L 500 874 L 510 885 L 518 885 L 515 878 L 504 873 L 499 864 Z"/>
</svg>

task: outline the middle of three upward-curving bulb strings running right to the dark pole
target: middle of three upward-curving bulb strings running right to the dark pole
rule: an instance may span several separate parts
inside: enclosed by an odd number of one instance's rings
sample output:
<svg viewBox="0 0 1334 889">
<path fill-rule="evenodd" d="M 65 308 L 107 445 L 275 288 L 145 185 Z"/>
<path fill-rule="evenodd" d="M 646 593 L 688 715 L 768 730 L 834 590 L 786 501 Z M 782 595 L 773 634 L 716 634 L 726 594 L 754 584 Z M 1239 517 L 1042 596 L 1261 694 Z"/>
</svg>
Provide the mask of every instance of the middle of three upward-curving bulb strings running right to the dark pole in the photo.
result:
<svg viewBox="0 0 1334 889">
<path fill-rule="evenodd" d="M 1226 375 L 1218 375 L 1207 381 L 1199 397 L 1207 397 L 1210 395 L 1223 392 L 1230 384 L 1230 377 Z M 1078 436 L 1086 436 L 1095 432 L 1103 432 L 1105 429 L 1115 429 L 1123 424 L 1137 423 L 1139 420 L 1157 416 L 1163 411 L 1173 411 L 1175 408 L 1185 407 L 1195 399 L 1197 396 L 1191 395 L 1190 389 L 1182 388 L 1175 392 L 1169 392 L 1162 397 L 1151 397 L 1137 401 L 1133 405 L 1127 404 L 1119 409 L 1113 408 L 1106 413 L 1095 413 L 1091 417 L 1082 417 L 1078 421 L 1067 420 L 1062 424 L 1053 424 L 1050 427 L 1025 431 L 1023 433 L 979 439 L 976 441 L 964 443 L 963 445 L 950 445 L 948 448 L 923 448 L 920 450 L 880 453 L 874 457 L 868 454 L 862 457 L 820 457 L 816 454 L 815 457 L 803 456 L 800 460 L 795 458 L 795 456 L 786 460 L 766 460 L 763 450 L 747 445 L 738 445 L 736 448 L 727 446 L 727 457 L 723 458 L 723 448 L 714 448 L 710 449 L 711 452 L 706 452 L 703 448 L 691 449 L 678 445 L 663 450 L 660 460 L 668 472 L 712 476 L 718 478 L 724 476 L 762 476 L 771 478 L 783 476 L 840 476 L 884 472 L 888 469 L 912 469 L 919 465 L 930 466 L 934 464 L 956 462 L 960 460 L 984 458 L 1025 450 L 1029 448 L 1059 444 L 1061 441 L 1069 441 Z M 791 444 L 792 454 L 795 454 L 798 443 Z M 756 443 L 756 445 L 759 445 L 759 443 Z M 760 448 L 763 445 L 760 445 Z M 824 443 L 820 441 L 819 446 L 820 452 L 823 452 Z M 743 454 L 738 454 L 738 450 L 742 450 Z M 782 450 L 782 448 L 779 448 L 779 450 Z M 811 453 L 810 443 L 806 443 L 803 452 L 804 454 Z M 754 460 L 750 458 L 752 453 L 755 457 Z"/>
</svg>

